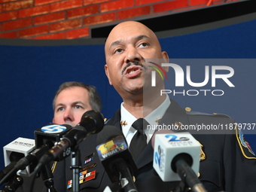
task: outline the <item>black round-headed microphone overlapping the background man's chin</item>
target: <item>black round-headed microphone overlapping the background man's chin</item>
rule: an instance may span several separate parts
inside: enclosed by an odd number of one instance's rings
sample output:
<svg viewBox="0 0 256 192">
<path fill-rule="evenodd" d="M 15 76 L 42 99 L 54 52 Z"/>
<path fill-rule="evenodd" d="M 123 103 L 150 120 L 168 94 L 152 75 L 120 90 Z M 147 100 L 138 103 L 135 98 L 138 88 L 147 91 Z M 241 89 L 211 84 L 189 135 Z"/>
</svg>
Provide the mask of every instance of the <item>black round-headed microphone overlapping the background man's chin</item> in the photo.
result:
<svg viewBox="0 0 256 192">
<path fill-rule="evenodd" d="M 65 157 L 69 156 L 70 148 L 75 148 L 90 134 L 99 133 L 103 126 L 104 120 L 102 114 L 93 110 L 85 112 L 81 117 L 81 122 L 41 157 L 39 166 L 49 163 L 51 160 L 56 160 L 56 157 L 59 157 L 63 151 L 66 151 Z"/>
</svg>

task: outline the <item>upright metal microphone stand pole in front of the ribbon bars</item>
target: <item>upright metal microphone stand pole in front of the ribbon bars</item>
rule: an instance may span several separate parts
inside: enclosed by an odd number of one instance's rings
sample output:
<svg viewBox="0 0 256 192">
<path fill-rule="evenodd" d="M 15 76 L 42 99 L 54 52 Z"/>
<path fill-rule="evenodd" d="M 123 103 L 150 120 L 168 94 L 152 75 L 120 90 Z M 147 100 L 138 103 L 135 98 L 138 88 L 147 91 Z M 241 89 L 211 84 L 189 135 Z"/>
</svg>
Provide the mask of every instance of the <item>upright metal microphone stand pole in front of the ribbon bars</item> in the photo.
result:
<svg viewBox="0 0 256 192">
<path fill-rule="evenodd" d="M 79 192 L 79 172 L 81 170 L 81 167 L 81 152 L 78 146 L 76 146 L 74 150 L 72 150 L 70 166 L 70 169 L 73 170 L 73 192 Z"/>
</svg>

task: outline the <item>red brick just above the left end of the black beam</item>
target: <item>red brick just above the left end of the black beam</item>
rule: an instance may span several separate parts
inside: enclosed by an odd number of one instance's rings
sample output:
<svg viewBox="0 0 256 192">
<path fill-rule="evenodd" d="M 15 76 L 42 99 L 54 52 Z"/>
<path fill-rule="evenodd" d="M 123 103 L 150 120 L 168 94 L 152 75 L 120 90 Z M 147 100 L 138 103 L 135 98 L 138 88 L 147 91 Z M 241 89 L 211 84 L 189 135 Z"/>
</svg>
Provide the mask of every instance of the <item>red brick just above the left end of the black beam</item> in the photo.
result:
<svg viewBox="0 0 256 192">
<path fill-rule="evenodd" d="M 99 14 L 91 17 L 85 17 L 83 24 L 84 26 L 90 26 L 98 23 L 108 23 L 113 20 L 116 20 L 116 14 L 114 12 L 108 14 Z"/>
</svg>

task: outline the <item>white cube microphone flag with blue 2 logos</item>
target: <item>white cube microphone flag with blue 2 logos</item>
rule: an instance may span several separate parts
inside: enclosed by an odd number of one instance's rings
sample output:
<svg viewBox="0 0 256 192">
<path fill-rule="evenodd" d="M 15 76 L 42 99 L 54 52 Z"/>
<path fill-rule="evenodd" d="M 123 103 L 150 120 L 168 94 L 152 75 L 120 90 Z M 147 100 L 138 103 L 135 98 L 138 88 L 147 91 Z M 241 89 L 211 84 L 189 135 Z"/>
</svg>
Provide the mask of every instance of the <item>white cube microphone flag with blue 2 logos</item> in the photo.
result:
<svg viewBox="0 0 256 192">
<path fill-rule="evenodd" d="M 189 159 L 191 169 L 195 173 L 199 172 L 200 144 L 190 133 L 157 134 L 153 167 L 162 181 L 181 181 L 176 170 L 173 169 L 177 158 Z"/>
</svg>

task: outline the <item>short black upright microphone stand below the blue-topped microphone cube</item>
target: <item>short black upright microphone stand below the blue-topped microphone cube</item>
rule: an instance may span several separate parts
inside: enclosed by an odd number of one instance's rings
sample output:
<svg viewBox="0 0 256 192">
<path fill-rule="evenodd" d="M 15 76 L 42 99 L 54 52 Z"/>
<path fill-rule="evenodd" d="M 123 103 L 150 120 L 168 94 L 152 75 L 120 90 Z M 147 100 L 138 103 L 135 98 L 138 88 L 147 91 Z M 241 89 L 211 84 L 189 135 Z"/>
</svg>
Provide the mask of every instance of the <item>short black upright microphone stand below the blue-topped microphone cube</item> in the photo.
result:
<svg viewBox="0 0 256 192">
<path fill-rule="evenodd" d="M 44 185 L 47 187 L 47 190 L 49 192 L 57 192 L 54 187 L 53 172 L 51 172 L 49 163 L 41 167 L 41 174 L 42 174 L 42 179 L 44 181 Z"/>
</svg>

